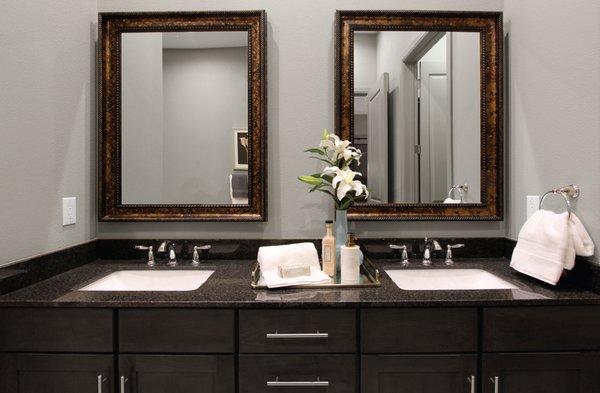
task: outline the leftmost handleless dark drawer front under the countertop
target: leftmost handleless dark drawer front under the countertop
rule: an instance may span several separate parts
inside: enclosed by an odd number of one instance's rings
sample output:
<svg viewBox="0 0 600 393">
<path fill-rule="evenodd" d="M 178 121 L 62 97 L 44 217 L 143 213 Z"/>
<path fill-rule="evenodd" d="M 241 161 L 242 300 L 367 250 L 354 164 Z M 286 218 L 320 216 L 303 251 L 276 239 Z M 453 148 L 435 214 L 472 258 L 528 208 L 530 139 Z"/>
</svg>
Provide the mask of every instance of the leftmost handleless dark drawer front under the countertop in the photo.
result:
<svg viewBox="0 0 600 393">
<path fill-rule="evenodd" d="M 113 350 L 113 311 L 109 309 L 4 308 L 0 321 L 0 351 Z"/>
</svg>

